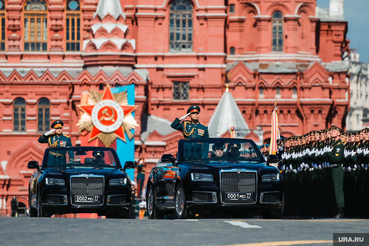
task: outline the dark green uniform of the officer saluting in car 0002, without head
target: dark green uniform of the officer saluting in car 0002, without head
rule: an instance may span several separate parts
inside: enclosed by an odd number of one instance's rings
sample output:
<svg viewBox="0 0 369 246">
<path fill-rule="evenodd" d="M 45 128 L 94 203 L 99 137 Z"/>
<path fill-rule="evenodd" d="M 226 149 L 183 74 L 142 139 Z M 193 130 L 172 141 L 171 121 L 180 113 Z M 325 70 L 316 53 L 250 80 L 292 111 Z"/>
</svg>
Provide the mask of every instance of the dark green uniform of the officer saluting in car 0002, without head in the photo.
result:
<svg viewBox="0 0 369 246">
<path fill-rule="evenodd" d="M 50 147 L 54 148 L 54 147 L 72 146 L 72 141 L 70 140 L 70 137 L 65 135 L 65 134 L 62 134 L 60 136 L 56 135 L 55 133 L 52 133 L 49 136 L 45 136 L 45 134 L 42 134 L 38 138 L 38 142 L 39 143 L 47 143 L 49 148 Z M 65 165 L 66 162 L 67 162 L 66 152 L 67 151 L 63 151 L 63 150 L 58 150 L 58 151 L 55 151 L 55 152 L 50 150 L 49 155 L 48 155 L 47 165 L 48 166 Z M 69 155 L 69 161 L 68 162 L 74 163 L 74 153 L 73 153 L 73 151 L 69 150 L 68 155 Z"/>
</svg>

